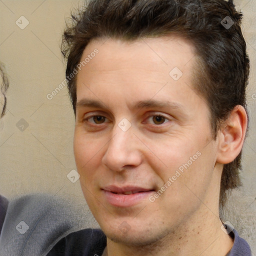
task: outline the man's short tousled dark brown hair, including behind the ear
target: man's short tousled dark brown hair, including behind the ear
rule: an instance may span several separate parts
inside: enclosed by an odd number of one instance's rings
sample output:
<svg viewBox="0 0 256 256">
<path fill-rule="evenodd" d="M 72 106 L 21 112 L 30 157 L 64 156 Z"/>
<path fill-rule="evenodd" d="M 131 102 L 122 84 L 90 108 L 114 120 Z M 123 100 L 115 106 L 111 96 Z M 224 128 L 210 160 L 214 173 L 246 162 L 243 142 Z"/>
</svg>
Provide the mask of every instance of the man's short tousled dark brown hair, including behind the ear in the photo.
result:
<svg viewBox="0 0 256 256">
<path fill-rule="evenodd" d="M 215 139 L 219 124 L 234 106 L 246 108 L 249 59 L 240 28 L 241 17 L 232 0 L 89 0 L 84 9 L 72 15 L 72 23 L 67 25 L 62 38 L 74 112 L 76 76 L 69 75 L 92 39 L 135 40 L 177 34 L 195 47 L 201 68 L 196 68 L 194 89 L 207 101 Z M 224 27 L 227 20 L 233 22 L 231 27 Z M 232 162 L 224 164 L 220 206 L 224 205 L 227 190 L 240 185 L 240 168 L 241 152 Z"/>
</svg>

